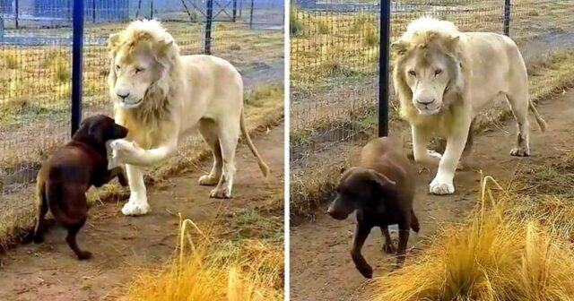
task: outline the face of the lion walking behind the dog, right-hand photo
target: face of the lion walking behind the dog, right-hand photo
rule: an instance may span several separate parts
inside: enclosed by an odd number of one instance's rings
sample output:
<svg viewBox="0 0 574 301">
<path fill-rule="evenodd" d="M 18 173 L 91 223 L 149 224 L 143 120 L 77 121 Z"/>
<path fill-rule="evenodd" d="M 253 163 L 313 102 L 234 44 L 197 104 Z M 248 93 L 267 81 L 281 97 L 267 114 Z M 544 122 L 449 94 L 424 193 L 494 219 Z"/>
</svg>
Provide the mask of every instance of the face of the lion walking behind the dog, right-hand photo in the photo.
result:
<svg viewBox="0 0 574 301">
<path fill-rule="evenodd" d="M 433 48 L 413 51 L 404 61 L 404 79 L 413 92 L 413 106 L 422 115 L 439 112 L 448 84 L 457 76 L 448 55 Z"/>
</svg>

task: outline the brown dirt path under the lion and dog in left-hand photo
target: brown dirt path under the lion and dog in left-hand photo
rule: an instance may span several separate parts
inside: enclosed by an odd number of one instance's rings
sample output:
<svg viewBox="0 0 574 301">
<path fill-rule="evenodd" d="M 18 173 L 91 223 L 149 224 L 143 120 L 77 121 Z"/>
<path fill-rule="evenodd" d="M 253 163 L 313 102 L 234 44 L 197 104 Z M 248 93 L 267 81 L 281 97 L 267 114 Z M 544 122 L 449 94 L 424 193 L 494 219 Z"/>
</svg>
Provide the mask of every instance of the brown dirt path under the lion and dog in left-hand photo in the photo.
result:
<svg viewBox="0 0 574 301">
<path fill-rule="evenodd" d="M 51 228 L 41 245 L 21 245 L 2 255 L 0 301 L 117 299 L 135 269 L 158 266 L 173 254 L 178 212 L 200 227 L 214 219 L 229 225 L 240 212 L 257 210 L 265 202 L 276 202 L 277 195 L 283 196 L 283 134 L 282 124 L 254 141 L 272 169 L 267 179 L 261 176 L 248 148 L 240 144 L 230 200 L 209 199 L 212 187 L 197 185 L 198 177 L 211 168 L 210 161 L 149 188 L 152 212 L 143 217 L 121 215 L 125 201 L 92 208 L 78 240 L 93 254 L 90 261 L 75 259 L 62 228 Z M 275 214 L 283 217 L 283 211 Z"/>
</svg>

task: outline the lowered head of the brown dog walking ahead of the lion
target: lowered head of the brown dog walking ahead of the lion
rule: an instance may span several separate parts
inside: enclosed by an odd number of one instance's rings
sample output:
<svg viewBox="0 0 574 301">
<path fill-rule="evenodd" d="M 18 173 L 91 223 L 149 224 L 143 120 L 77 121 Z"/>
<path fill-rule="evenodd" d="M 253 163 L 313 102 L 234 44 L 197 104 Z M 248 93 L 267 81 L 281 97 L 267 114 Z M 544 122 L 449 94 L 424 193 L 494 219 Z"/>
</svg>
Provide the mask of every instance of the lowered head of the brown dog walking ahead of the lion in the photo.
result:
<svg viewBox="0 0 574 301">
<path fill-rule="evenodd" d="M 346 219 L 357 209 L 384 210 L 384 203 L 379 201 L 395 192 L 396 183 L 373 169 L 349 168 L 341 172 L 337 196 L 327 210 L 334 219 Z"/>
</svg>

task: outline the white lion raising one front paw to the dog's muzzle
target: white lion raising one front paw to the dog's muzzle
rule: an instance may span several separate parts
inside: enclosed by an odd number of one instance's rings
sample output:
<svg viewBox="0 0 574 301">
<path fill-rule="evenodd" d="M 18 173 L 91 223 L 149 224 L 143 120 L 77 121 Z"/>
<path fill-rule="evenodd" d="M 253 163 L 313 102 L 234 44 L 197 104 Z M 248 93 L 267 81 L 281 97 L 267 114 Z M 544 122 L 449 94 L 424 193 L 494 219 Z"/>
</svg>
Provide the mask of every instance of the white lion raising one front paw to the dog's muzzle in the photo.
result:
<svg viewBox="0 0 574 301">
<path fill-rule="evenodd" d="M 109 94 L 126 140 L 110 144 L 126 164 L 130 187 L 125 215 L 150 211 L 143 167 L 176 154 L 183 137 L 196 130 L 213 152 L 213 168 L 200 185 L 217 185 L 214 198 L 230 198 L 239 132 L 267 176 L 269 168 L 249 138 L 239 72 L 215 56 L 180 56 L 173 37 L 157 21 L 135 21 L 109 37 Z"/>
</svg>

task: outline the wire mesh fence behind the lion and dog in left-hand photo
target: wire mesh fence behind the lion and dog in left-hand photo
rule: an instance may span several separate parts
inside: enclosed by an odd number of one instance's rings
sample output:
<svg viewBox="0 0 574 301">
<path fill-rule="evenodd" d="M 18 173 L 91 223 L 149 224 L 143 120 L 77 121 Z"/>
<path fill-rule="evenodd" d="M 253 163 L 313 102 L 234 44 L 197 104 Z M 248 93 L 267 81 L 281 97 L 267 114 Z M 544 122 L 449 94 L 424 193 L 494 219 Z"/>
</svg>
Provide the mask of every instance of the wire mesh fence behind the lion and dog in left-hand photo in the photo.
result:
<svg viewBox="0 0 574 301">
<path fill-rule="evenodd" d="M 83 116 L 112 113 L 107 83 L 108 37 L 134 19 L 159 19 L 176 39 L 182 55 L 203 54 L 209 43 L 212 55 L 229 60 L 239 69 L 246 90 L 283 82 L 282 1 L 246 4 L 245 0 L 212 0 L 213 16 L 217 17 L 211 22 L 210 36 L 206 36 L 208 22 L 198 12 L 204 10 L 206 15 L 205 1 L 192 1 L 84 3 Z M 18 224 L 16 217 L 28 219 L 42 160 L 70 136 L 71 3 L 0 1 L 4 21 L 0 33 L 0 220 L 10 218 Z M 234 3 L 238 5 L 235 22 L 222 17 L 233 15 Z M 14 20 L 19 20 L 17 25 Z M 191 138 L 181 153 L 193 153 L 199 143 Z M 1 221 L 0 226 L 4 226 Z M 0 236 L 4 228 L 0 227 Z"/>
</svg>

